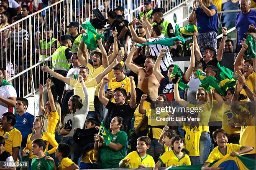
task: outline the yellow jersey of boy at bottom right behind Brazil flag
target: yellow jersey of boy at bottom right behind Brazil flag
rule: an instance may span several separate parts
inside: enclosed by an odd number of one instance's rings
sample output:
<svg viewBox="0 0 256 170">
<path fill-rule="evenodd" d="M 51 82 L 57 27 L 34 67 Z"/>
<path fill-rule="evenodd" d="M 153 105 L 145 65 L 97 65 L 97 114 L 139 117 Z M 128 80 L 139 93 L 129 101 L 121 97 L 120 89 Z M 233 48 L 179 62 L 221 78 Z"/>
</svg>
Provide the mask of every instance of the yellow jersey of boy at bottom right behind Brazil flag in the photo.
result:
<svg viewBox="0 0 256 170">
<path fill-rule="evenodd" d="M 216 146 L 212 152 L 210 153 L 208 159 L 206 160 L 207 163 L 213 163 L 215 160 L 219 160 L 225 155 L 232 153 L 233 151 L 239 152 L 242 145 L 227 143 L 226 145 L 226 153 L 222 153 L 218 146 Z"/>
</svg>

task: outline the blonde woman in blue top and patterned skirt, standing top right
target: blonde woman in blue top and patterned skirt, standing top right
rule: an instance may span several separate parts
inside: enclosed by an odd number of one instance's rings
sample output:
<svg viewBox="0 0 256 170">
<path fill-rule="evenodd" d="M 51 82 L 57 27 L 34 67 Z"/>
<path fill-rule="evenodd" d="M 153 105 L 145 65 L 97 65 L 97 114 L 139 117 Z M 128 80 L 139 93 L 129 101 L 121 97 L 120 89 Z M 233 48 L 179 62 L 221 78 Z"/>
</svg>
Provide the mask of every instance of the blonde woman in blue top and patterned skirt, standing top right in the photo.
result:
<svg viewBox="0 0 256 170">
<path fill-rule="evenodd" d="M 199 4 L 200 7 L 197 7 Z M 189 23 L 196 23 L 198 30 L 197 41 L 200 52 L 207 46 L 217 51 L 217 7 L 212 0 L 194 0 L 193 10 L 189 15 Z"/>
</svg>

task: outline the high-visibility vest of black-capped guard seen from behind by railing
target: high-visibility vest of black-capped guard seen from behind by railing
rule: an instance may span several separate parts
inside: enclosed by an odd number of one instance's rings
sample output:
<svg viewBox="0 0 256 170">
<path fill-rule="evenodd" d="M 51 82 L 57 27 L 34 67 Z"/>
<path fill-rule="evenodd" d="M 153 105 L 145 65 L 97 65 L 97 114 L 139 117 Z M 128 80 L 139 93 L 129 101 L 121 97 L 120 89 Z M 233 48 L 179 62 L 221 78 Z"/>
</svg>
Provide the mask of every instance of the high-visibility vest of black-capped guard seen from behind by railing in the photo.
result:
<svg viewBox="0 0 256 170">
<path fill-rule="evenodd" d="M 53 54 L 51 59 L 52 70 L 69 71 L 70 63 L 66 58 L 65 50 L 68 47 L 61 45 Z"/>
</svg>

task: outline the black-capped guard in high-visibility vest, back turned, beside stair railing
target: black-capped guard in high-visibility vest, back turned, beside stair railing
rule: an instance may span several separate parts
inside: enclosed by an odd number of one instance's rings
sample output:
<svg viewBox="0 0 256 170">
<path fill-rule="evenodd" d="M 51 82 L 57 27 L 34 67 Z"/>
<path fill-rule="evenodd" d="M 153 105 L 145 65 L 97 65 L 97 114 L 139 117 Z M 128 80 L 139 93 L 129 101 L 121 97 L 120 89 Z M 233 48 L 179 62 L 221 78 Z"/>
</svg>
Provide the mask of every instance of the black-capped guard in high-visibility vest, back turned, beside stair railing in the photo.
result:
<svg viewBox="0 0 256 170">
<path fill-rule="evenodd" d="M 69 35 L 62 35 L 61 43 L 61 46 L 52 54 L 51 70 L 66 77 L 72 56 L 70 50 L 72 46 L 71 37 Z M 59 96 L 58 102 L 60 103 L 65 83 L 54 77 L 52 77 L 52 82 L 55 85 L 56 93 Z"/>
</svg>

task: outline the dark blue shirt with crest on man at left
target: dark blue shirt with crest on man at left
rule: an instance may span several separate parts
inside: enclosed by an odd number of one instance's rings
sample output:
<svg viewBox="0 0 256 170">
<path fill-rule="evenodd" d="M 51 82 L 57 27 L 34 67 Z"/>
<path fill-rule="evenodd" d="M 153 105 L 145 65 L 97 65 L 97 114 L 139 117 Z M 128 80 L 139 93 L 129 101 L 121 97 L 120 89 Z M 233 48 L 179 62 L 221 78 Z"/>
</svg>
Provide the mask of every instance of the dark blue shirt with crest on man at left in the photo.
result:
<svg viewBox="0 0 256 170">
<path fill-rule="evenodd" d="M 18 129 L 22 135 L 21 147 L 26 147 L 28 135 L 31 134 L 31 128 L 33 128 L 33 121 L 35 117 L 26 112 L 22 116 L 16 115 L 17 122 L 14 128 Z"/>
</svg>

